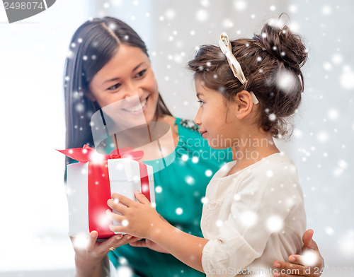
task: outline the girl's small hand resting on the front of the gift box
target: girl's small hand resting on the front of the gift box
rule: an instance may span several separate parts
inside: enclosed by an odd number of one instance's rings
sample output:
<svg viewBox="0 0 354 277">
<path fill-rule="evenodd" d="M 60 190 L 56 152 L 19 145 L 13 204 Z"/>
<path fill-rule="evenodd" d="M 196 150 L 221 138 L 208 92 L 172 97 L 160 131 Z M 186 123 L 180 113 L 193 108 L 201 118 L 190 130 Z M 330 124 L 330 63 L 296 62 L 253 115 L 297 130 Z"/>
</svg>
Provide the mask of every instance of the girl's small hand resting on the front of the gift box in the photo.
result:
<svg viewBox="0 0 354 277">
<path fill-rule="evenodd" d="M 158 224 L 163 220 L 144 194 L 135 191 L 135 197 L 139 202 L 121 194 L 112 194 L 114 201 L 109 199 L 107 204 L 120 214 L 112 213 L 110 210 L 106 213 L 110 220 L 122 223 L 122 225 L 110 225 L 110 230 L 126 232 L 135 237 L 149 238 L 153 230 L 159 230 Z"/>
</svg>

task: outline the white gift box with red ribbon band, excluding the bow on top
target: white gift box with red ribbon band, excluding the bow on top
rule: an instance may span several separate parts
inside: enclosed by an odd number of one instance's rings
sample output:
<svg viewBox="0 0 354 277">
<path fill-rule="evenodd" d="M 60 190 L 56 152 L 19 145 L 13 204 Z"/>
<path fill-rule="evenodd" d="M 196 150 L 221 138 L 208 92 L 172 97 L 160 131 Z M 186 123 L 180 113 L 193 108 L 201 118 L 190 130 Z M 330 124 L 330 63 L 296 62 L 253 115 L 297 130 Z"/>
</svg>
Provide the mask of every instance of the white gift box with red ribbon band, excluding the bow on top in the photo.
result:
<svg viewBox="0 0 354 277">
<path fill-rule="evenodd" d="M 98 239 L 106 239 L 114 235 L 108 228 L 112 221 L 105 215 L 105 210 L 110 209 L 107 206 L 107 201 L 111 194 L 122 194 L 137 201 L 135 191 L 138 190 L 145 196 L 150 196 L 149 201 L 155 204 L 153 169 L 149 165 L 129 158 L 108 159 L 101 163 L 106 163 L 108 167 L 109 180 L 108 177 L 103 176 L 97 181 L 94 177 L 89 177 L 89 174 L 92 174 L 89 173 L 89 170 L 94 169 L 89 163 L 93 162 L 67 165 L 69 235 L 72 237 L 89 235 L 89 232 L 93 231 L 93 225 L 99 226 Z M 142 170 L 144 167 L 147 170 L 147 176 L 144 176 L 146 175 L 143 172 L 145 170 Z M 91 180 L 90 184 L 89 179 Z M 144 180 L 148 180 L 148 184 Z M 105 192 L 103 193 L 103 191 Z M 91 213 L 95 209 L 93 203 L 98 202 L 101 211 L 95 211 L 95 214 Z M 113 224 L 120 225 L 118 222 L 113 222 Z"/>
</svg>

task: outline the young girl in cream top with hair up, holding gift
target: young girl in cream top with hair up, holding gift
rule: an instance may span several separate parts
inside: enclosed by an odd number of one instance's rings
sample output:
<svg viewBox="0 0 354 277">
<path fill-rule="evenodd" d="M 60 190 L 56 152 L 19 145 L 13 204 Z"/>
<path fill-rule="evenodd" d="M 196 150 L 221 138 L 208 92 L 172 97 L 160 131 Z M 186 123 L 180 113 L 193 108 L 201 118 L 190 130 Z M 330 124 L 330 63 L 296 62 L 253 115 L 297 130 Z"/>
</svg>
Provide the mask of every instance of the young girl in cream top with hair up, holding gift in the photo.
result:
<svg viewBox="0 0 354 277">
<path fill-rule="evenodd" d="M 275 146 L 304 89 L 307 51 L 287 26 L 266 24 L 253 39 L 202 46 L 188 63 L 200 109 L 195 124 L 212 148 L 236 148 L 207 186 L 202 237 L 173 227 L 138 192 L 113 194 L 115 232 L 155 242 L 207 276 L 273 275 L 273 261 L 301 249 L 306 216 L 295 164 Z M 164 182 L 169 182 L 166 179 Z M 122 204 L 122 205 L 121 205 Z M 295 273 L 296 274 L 296 273 Z"/>
</svg>

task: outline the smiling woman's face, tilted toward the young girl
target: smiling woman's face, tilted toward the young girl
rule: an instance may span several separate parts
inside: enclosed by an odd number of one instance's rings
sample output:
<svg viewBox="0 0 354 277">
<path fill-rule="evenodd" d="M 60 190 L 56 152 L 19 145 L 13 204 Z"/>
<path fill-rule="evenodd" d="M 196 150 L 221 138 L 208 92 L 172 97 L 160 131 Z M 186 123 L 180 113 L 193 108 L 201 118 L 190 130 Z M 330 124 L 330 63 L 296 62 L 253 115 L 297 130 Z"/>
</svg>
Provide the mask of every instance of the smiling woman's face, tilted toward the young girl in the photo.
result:
<svg viewBox="0 0 354 277">
<path fill-rule="evenodd" d="M 125 105 L 119 111 L 120 117 L 139 117 L 143 112 L 147 122 L 154 120 L 159 91 L 149 58 L 138 47 L 120 45 L 112 59 L 93 76 L 89 90 L 89 98 L 100 107 L 136 96 L 140 103 Z"/>
</svg>

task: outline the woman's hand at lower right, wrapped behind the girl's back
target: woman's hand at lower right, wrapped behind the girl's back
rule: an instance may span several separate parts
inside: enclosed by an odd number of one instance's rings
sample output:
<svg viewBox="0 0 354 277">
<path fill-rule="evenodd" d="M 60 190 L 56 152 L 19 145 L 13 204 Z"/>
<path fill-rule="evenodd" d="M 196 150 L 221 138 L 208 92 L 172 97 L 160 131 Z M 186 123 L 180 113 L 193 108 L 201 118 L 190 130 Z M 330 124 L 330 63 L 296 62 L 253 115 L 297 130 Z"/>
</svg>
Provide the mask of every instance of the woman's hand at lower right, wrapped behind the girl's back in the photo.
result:
<svg viewBox="0 0 354 277">
<path fill-rule="evenodd" d="M 302 247 L 301 255 L 290 255 L 289 261 L 292 263 L 287 263 L 285 261 L 275 261 L 273 266 L 278 269 L 278 273 L 273 274 L 273 276 L 280 277 L 295 277 L 295 276 L 306 276 L 306 277 L 319 277 L 324 271 L 324 258 L 319 252 L 319 247 L 316 242 L 312 240 L 314 231 L 309 229 L 304 232 L 302 236 L 302 242 L 304 246 Z"/>
</svg>

